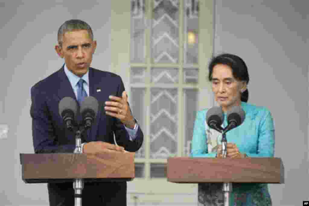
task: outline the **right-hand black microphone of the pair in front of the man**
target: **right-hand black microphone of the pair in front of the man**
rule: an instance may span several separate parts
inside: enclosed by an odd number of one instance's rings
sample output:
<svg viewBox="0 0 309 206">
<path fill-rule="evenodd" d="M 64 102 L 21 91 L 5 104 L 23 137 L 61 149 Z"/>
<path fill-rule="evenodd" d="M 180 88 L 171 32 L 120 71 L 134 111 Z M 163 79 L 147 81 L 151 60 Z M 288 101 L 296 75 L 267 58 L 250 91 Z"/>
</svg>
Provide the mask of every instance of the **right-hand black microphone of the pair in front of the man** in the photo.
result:
<svg viewBox="0 0 309 206">
<path fill-rule="evenodd" d="M 85 124 L 85 129 L 91 127 L 92 122 L 94 122 L 95 117 L 98 113 L 98 109 L 99 103 L 95 97 L 85 97 L 80 107 L 80 113 L 83 118 L 83 123 Z"/>
</svg>

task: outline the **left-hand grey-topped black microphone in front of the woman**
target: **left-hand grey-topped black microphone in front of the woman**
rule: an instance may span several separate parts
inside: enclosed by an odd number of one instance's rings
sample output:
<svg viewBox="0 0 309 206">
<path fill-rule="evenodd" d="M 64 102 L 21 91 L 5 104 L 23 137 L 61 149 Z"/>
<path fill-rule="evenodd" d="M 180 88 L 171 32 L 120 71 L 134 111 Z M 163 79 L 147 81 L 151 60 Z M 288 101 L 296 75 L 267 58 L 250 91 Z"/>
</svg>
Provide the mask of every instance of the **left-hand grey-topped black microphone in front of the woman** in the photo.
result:
<svg viewBox="0 0 309 206">
<path fill-rule="evenodd" d="M 206 114 L 206 122 L 207 125 L 217 130 L 218 132 L 222 132 L 223 128 L 221 127 L 223 122 L 223 111 L 221 107 L 212 107 L 207 111 Z"/>
</svg>

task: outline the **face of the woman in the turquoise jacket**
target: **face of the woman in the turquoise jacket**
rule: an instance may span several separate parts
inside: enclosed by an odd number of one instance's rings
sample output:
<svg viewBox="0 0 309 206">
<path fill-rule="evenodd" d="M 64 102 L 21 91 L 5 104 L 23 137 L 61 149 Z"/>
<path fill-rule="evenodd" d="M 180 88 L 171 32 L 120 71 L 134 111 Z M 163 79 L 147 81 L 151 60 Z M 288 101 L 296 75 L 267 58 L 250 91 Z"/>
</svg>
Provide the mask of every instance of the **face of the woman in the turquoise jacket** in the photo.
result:
<svg viewBox="0 0 309 206">
<path fill-rule="evenodd" d="M 246 89 L 246 82 L 236 80 L 231 67 L 216 64 L 212 73 L 212 90 L 215 100 L 227 112 L 233 106 L 241 105 L 241 92 Z"/>
</svg>

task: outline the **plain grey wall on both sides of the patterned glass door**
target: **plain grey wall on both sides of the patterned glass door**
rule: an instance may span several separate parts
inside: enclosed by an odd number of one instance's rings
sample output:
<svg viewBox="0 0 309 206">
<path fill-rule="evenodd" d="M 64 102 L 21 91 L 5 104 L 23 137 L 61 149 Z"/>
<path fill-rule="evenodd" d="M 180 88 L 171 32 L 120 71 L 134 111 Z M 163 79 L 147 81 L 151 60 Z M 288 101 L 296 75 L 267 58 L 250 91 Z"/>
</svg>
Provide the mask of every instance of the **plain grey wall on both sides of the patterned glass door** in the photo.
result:
<svg viewBox="0 0 309 206">
<path fill-rule="evenodd" d="M 214 53 L 231 52 L 248 64 L 249 102 L 273 114 L 275 156 L 285 166 L 285 184 L 270 185 L 273 205 L 300 205 L 308 186 L 308 8 L 302 0 L 217 0 Z M 24 184 L 19 153 L 33 152 L 31 86 L 63 64 L 53 47 L 66 19 L 83 19 L 98 47 L 93 67 L 110 70 L 109 1 L 0 2 L 0 204 L 48 205 L 45 184 Z M 123 77 L 125 78 L 125 77 Z M 55 82 L 57 84 L 57 82 Z M 289 120 L 293 121 L 289 121 Z"/>
</svg>

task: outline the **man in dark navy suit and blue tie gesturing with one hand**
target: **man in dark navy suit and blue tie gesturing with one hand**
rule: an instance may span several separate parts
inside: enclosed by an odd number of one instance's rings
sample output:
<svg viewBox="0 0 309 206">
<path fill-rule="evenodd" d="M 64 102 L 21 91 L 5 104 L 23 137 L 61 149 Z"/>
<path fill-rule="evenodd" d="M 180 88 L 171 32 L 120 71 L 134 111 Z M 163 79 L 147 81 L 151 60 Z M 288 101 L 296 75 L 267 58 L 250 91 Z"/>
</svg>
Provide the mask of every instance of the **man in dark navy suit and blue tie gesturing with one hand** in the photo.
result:
<svg viewBox="0 0 309 206">
<path fill-rule="evenodd" d="M 55 50 L 64 58 L 65 64 L 31 88 L 35 153 L 74 152 L 75 135 L 66 130 L 58 104 L 63 97 L 79 100 L 81 92 L 99 101 L 95 122 L 84 137 L 83 153 L 95 154 L 103 150 L 134 152 L 141 147 L 143 133 L 129 108 L 121 77 L 90 67 L 95 48 L 96 41 L 87 23 L 69 20 L 59 28 Z M 86 182 L 83 204 L 126 205 L 126 191 L 126 182 Z M 48 183 L 48 192 L 50 205 L 74 204 L 72 183 Z"/>
</svg>

